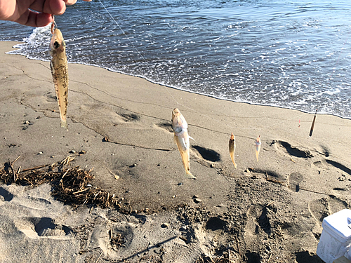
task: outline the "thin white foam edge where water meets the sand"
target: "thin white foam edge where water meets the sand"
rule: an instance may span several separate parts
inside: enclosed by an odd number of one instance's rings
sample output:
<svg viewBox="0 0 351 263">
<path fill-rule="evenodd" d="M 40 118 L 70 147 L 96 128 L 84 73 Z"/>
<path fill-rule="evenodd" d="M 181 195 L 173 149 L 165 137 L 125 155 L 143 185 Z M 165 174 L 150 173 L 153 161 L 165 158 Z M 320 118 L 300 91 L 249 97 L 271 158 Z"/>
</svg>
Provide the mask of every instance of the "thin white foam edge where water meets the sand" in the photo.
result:
<svg viewBox="0 0 351 263">
<path fill-rule="evenodd" d="M 18 45 L 20 43 L 25 43 L 25 42 L 21 42 L 21 41 L 0 41 L 0 42 L 12 42 L 12 43 L 15 43 L 15 45 Z M 14 45 L 14 46 L 15 46 Z M 11 50 L 10 50 L 11 51 Z M 24 56 L 25 58 L 27 58 L 27 55 L 24 55 L 24 54 L 8 54 L 8 55 L 22 55 Z M 29 60 L 37 60 L 35 58 L 27 58 Z M 49 60 L 39 60 L 39 61 L 49 61 Z M 237 103 L 245 103 L 245 104 L 251 104 L 251 105 L 257 105 L 257 106 L 266 106 L 266 107 L 277 107 L 277 108 L 282 108 L 282 109 L 292 109 L 292 110 L 296 110 L 296 111 L 299 111 L 299 112 L 303 112 L 303 113 L 306 113 L 306 114 L 314 114 L 314 112 L 306 112 L 306 111 L 303 111 L 302 109 L 295 109 L 293 107 L 284 107 L 284 106 L 279 106 L 279 105 L 274 105 L 274 104 L 260 104 L 260 103 L 254 103 L 254 102 L 245 102 L 245 101 L 237 101 L 237 100 L 230 100 L 230 99 L 226 99 L 226 98 L 223 98 L 223 97 L 217 97 L 215 95 L 209 95 L 209 94 L 204 94 L 204 93 L 197 93 L 196 91 L 192 91 L 192 90 L 185 90 L 183 88 L 178 88 L 178 87 L 175 87 L 175 86 L 168 86 L 164 83 L 157 83 L 156 81 L 152 81 L 150 79 L 147 79 L 145 76 L 140 76 L 140 75 L 133 75 L 133 74 L 128 74 L 128 73 L 125 73 L 125 72 L 119 72 L 119 71 L 114 71 L 110 68 L 107 68 L 107 67 L 100 67 L 98 65 L 90 65 L 88 63 L 84 63 L 84 62 L 68 62 L 69 65 L 74 65 L 74 64 L 77 64 L 77 65 L 85 65 L 85 66 L 90 66 L 90 67 L 98 67 L 100 69 L 106 69 L 110 72 L 114 72 L 114 73 L 119 73 L 119 74 L 124 74 L 126 76 L 133 76 L 133 77 L 136 77 L 136 78 L 140 78 L 140 79 L 144 79 L 145 81 L 148 81 L 150 83 L 153 83 L 153 84 L 156 84 L 156 85 L 159 85 L 159 86 L 164 86 L 165 88 L 173 88 L 173 89 L 176 89 L 176 90 L 180 90 L 180 91 L 184 91 L 184 92 L 188 92 L 188 93 L 194 93 L 194 94 L 197 94 L 197 95 L 203 95 L 203 96 L 206 96 L 206 97 L 212 97 L 214 99 L 217 99 L 217 100 L 225 100 L 225 101 L 229 101 L 229 102 L 237 102 Z M 339 117 L 341 119 L 351 119 L 348 118 L 348 117 L 345 117 L 345 116 L 340 116 L 338 114 L 331 114 L 331 113 L 326 113 L 326 112 L 317 112 L 317 115 L 331 115 L 331 116 L 336 116 L 336 117 Z"/>
</svg>

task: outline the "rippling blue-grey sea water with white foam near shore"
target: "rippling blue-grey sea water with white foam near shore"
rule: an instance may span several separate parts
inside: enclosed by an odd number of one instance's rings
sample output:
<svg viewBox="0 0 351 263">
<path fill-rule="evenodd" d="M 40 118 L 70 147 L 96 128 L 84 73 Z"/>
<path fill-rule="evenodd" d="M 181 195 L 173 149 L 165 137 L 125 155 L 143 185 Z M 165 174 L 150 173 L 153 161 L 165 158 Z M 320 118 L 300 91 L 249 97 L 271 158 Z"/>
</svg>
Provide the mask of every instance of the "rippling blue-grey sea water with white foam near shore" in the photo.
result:
<svg viewBox="0 0 351 263">
<path fill-rule="evenodd" d="M 349 1 L 79 1 L 55 18 L 69 62 L 225 100 L 351 118 Z M 118 25 L 117 25 L 118 24 Z M 0 22 L 48 60 L 49 27 Z"/>
</svg>

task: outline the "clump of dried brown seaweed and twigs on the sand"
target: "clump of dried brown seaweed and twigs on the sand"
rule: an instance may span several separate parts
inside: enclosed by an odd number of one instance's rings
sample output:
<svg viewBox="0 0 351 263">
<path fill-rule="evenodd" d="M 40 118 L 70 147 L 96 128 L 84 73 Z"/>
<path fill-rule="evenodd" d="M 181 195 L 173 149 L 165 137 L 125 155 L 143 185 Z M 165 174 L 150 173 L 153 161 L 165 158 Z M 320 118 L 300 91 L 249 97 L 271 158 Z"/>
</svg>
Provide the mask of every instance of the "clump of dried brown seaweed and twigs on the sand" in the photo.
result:
<svg viewBox="0 0 351 263">
<path fill-rule="evenodd" d="M 69 167 L 69 163 L 74 161 L 74 158 L 75 156 L 67 156 L 61 162 L 24 170 L 21 170 L 21 167 L 15 170 L 13 167 L 13 163 L 18 159 L 8 161 L 3 168 L 0 168 L 0 182 L 29 187 L 50 183 L 53 186 L 53 196 L 74 207 L 79 205 L 95 205 L 101 208 L 119 206 L 114 195 L 89 184 L 94 179 L 91 170 L 83 170 L 79 166 Z"/>
</svg>

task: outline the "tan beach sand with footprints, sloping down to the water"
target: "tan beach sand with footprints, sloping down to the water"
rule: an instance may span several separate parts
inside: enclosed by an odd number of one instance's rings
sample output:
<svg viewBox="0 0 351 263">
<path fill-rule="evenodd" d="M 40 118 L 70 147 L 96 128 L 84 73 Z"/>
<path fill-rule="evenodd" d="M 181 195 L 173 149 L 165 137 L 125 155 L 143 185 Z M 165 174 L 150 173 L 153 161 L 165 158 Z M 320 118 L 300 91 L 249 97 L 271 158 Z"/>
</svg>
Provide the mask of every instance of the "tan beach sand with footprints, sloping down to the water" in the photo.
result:
<svg viewBox="0 0 351 263">
<path fill-rule="evenodd" d="M 351 120 L 319 114 L 309 137 L 312 114 L 69 64 L 67 131 L 49 63 L 6 55 L 14 44 L 0 42 L 0 168 L 84 150 L 71 166 L 94 168 L 93 187 L 115 194 L 121 209 L 73 209 L 49 184 L 1 184 L 0 262 L 321 262 L 323 218 L 350 208 Z M 195 140 L 197 180 L 173 142 L 175 107 Z"/>
</svg>

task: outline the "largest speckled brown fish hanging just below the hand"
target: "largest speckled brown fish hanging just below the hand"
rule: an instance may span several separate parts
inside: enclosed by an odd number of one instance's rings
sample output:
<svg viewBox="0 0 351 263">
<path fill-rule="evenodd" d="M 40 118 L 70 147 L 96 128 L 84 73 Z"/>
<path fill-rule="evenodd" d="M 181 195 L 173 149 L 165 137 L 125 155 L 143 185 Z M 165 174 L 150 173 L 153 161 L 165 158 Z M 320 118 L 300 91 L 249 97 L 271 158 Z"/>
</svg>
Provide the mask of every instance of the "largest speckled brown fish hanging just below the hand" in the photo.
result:
<svg viewBox="0 0 351 263">
<path fill-rule="evenodd" d="M 61 127 L 66 128 L 67 120 L 67 96 L 68 96 L 68 66 L 66 56 L 66 43 L 63 39 L 60 29 L 54 29 L 55 22 L 51 25 L 53 34 L 50 42 L 51 55 L 51 74 L 55 86 L 56 97 L 58 98 L 58 107 L 60 109 Z"/>
</svg>

